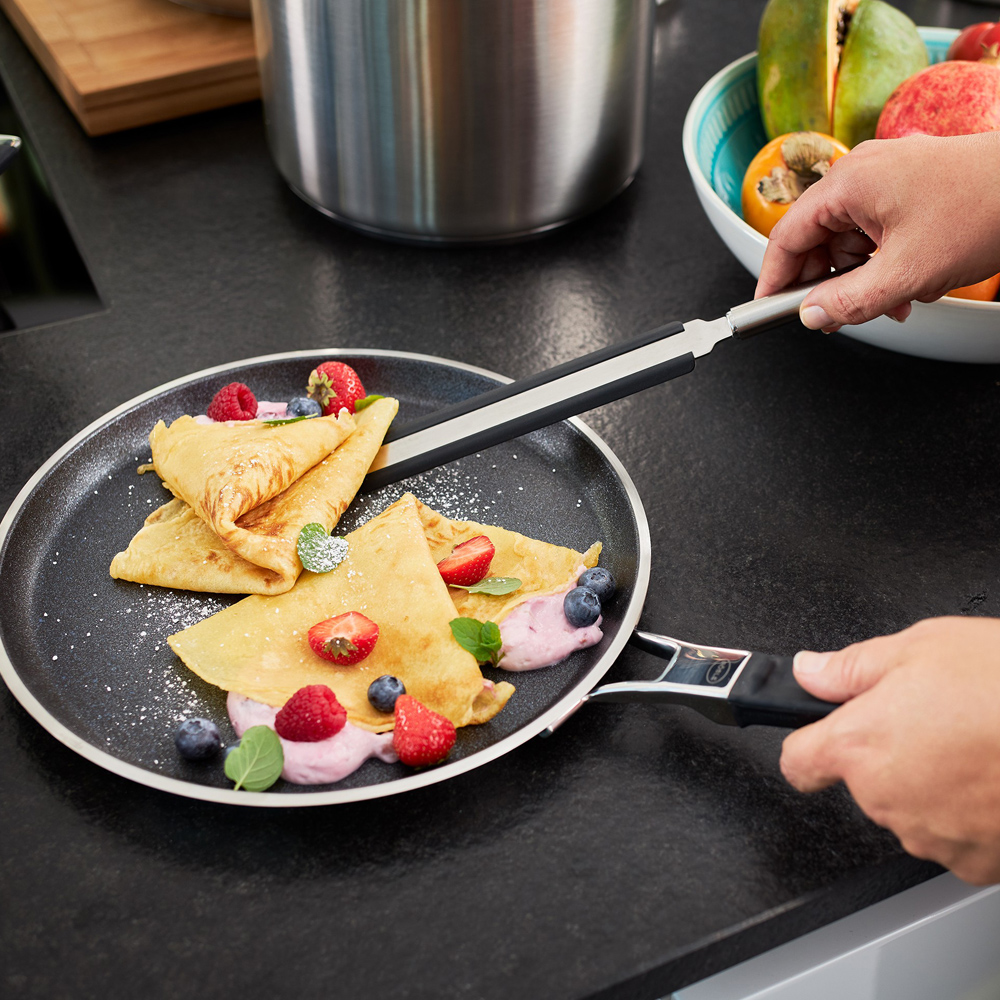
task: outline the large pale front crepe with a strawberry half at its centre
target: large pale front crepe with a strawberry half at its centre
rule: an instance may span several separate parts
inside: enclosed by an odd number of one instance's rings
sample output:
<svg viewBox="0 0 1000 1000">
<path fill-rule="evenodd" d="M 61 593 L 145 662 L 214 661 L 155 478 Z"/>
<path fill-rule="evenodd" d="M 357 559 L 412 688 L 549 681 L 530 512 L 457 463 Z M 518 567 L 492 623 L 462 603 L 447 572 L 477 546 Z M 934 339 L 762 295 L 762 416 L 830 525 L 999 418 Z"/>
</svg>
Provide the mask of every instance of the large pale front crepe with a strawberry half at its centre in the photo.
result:
<svg viewBox="0 0 1000 1000">
<path fill-rule="evenodd" d="M 404 494 L 378 517 L 347 535 L 348 553 L 329 573 L 304 572 L 294 588 L 252 596 L 172 635 L 174 652 L 199 677 L 268 705 L 283 705 L 307 684 L 326 684 L 350 722 L 372 732 L 393 718 L 368 701 L 382 674 L 456 726 L 485 722 L 513 693 L 484 681 L 475 657 L 455 641 L 455 605 L 424 536 L 418 501 Z M 372 653 L 340 667 L 307 641 L 317 622 L 360 611 L 379 626 Z"/>
</svg>

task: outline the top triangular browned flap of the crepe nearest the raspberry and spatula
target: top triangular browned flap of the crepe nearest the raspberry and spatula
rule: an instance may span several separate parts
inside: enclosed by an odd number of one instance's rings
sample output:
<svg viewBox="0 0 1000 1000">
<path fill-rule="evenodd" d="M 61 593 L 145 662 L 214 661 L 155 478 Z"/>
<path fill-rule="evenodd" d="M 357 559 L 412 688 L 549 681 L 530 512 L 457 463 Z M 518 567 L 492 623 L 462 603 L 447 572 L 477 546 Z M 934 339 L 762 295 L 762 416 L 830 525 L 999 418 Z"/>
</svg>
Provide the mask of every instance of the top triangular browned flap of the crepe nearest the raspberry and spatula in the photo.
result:
<svg viewBox="0 0 1000 1000">
<path fill-rule="evenodd" d="M 149 435 L 153 465 L 222 541 L 249 562 L 282 571 L 285 554 L 268 536 L 238 527 L 237 519 L 291 486 L 354 430 L 345 410 L 279 426 L 260 420 L 202 424 L 161 420 Z"/>
</svg>

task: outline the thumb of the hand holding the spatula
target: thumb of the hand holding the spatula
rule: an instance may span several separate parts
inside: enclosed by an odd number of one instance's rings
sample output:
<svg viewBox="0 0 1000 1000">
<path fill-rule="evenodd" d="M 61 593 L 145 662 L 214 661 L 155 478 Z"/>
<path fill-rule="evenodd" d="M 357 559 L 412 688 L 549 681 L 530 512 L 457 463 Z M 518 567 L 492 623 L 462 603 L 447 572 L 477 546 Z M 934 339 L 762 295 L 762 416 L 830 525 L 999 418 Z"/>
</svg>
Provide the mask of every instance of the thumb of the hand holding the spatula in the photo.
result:
<svg viewBox="0 0 1000 1000">
<path fill-rule="evenodd" d="M 838 275 L 810 292 L 799 307 L 809 330 L 832 333 L 844 324 L 866 323 L 883 313 L 902 322 L 914 295 L 904 285 L 885 248 L 861 267 Z"/>
</svg>

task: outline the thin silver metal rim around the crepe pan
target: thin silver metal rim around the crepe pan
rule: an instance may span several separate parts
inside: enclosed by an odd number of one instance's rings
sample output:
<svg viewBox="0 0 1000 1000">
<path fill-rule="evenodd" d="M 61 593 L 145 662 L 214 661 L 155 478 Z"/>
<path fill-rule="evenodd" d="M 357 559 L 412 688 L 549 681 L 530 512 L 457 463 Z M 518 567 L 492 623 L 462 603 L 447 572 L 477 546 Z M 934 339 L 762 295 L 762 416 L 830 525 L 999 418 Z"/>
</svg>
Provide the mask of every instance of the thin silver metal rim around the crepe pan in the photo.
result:
<svg viewBox="0 0 1000 1000">
<path fill-rule="evenodd" d="M 461 361 L 453 361 L 436 355 L 422 354 L 412 351 L 395 351 L 381 348 L 316 348 L 296 351 L 282 351 L 276 354 L 258 355 L 252 358 L 244 358 L 228 364 L 215 365 L 201 369 L 189 375 L 172 379 L 153 389 L 140 393 L 132 397 L 119 406 L 109 410 L 103 416 L 91 421 L 82 430 L 77 432 L 65 444 L 58 448 L 31 476 L 15 496 L 10 507 L 0 520 L 0 566 L 7 551 L 7 543 L 11 530 L 21 509 L 27 503 L 39 483 L 45 476 L 69 454 L 75 451 L 90 436 L 106 427 L 116 417 L 126 413 L 135 406 L 153 399 L 154 397 L 168 392 L 172 389 L 181 388 L 206 376 L 220 374 L 222 372 L 234 372 L 243 367 L 251 367 L 258 364 L 267 364 L 279 361 L 295 360 L 297 358 L 329 358 L 329 357 L 356 357 L 356 358 L 392 358 L 397 360 L 420 361 L 434 365 L 444 365 L 448 368 L 459 369 L 487 378 L 495 379 L 501 383 L 513 381 L 505 375 L 481 368 L 475 365 L 466 364 Z M 651 541 L 649 535 L 649 524 L 646 519 L 646 512 L 639 497 L 638 490 L 632 482 L 624 465 L 611 447 L 579 417 L 570 417 L 564 423 L 571 424 L 580 432 L 595 450 L 603 456 L 611 466 L 615 475 L 619 478 L 625 494 L 628 497 L 632 515 L 636 523 L 636 533 L 638 535 L 638 559 L 636 564 L 635 583 L 628 605 L 622 612 L 622 623 L 617 633 L 611 637 L 611 641 L 602 651 L 597 662 L 590 670 L 562 697 L 550 705 L 539 716 L 521 726 L 513 733 L 508 734 L 496 743 L 478 750 L 463 757 L 460 760 L 442 764 L 439 767 L 426 771 L 420 771 L 403 778 L 392 781 L 378 782 L 373 785 L 364 785 L 359 788 L 332 789 L 324 792 L 304 792 L 301 794 L 288 794 L 282 792 L 255 792 L 247 794 L 231 788 L 215 788 L 206 785 L 198 785 L 194 782 L 185 781 L 181 778 L 170 777 L 148 771 L 145 768 L 132 764 L 109 754 L 107 751 L 87 742 L 78 736 L 72 729 L 60 722 L 51 712 L 35 697 L 27 684 L 21 679 L 17 668 L 11 661 L 6 645 L 0 636 L 0 678 L 3 678 L 8 690 L 15 700 L 27 713 L 42 726 L 51 736 L 54 736 L 60 743 L 75 751 L 80 756 L 96 764 L 98 767 L 118 777 L 134 781 L 137 784 L 148 788 L 155 788 L 159 791 L 184 798 L 198 799 L 205 802 L 218 802 L 225 805 L 242 805 L 258 808 L 294 808 L 300 806 L 320 806 L 334 805 L 347 802 L 366 801 L 368 799 L 382 798 L 389 795 L 397 795 L 402 792 L 411 791 L 416 788 L 423 788 L 427 785 L 436 784 L 452 777 L 457 777 L 467 771 L 482 767 L 502 757 L 510 751 L 528 742 L 546 730 L 551 724 L 562 718 L 566 714 L 567 708 L 580 701 L 597 682 L 607 673 L 612 664 L 627 644 L 632 630 L 638 623 L 642 607 L 646 599 L 646 591 L 649 585 L 650 565 L 651 565 Z"/>
</svg>

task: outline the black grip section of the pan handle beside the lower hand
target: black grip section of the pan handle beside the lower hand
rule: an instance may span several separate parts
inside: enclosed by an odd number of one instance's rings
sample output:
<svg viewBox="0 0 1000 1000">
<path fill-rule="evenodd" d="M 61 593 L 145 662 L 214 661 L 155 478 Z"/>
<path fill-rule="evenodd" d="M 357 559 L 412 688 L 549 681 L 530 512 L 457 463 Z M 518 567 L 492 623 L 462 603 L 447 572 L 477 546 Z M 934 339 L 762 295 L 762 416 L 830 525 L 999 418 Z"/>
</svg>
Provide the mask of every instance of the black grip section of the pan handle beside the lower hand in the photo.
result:
<svg viewBox="0 0 1000 1000">
<path fill-rule="evenodd" d="M 753 653 L 727 699 L 738 726 L 798 729 L 825 719 L 836 702 L 814 698 L 795 679 L 792 657 Z"/>
</svg>

